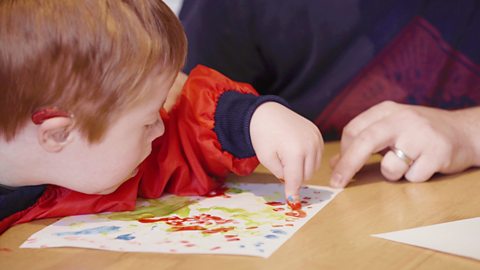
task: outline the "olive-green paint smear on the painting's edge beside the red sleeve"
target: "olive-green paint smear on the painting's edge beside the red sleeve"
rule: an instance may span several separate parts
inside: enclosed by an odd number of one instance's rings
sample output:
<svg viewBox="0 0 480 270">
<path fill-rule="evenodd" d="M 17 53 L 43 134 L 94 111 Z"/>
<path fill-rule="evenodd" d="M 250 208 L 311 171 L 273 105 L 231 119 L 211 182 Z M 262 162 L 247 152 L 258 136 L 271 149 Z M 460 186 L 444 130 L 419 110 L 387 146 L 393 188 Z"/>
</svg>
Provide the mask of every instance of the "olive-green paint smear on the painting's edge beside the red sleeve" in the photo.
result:
<svg viewBox="0 0 480 270">
<path fill-rule="evenodd" d="M 105 214 L 112 220 L 139 220 L 142 218 L 163 217 L 176 214 L 179 217 L 186 217 L 190 214 L 189 205 L 195 203 L 188 197 L 168 196 L 162 200 L 147 200 L 148 206 L 141 206 L 134 211 Z"/>
</svg>

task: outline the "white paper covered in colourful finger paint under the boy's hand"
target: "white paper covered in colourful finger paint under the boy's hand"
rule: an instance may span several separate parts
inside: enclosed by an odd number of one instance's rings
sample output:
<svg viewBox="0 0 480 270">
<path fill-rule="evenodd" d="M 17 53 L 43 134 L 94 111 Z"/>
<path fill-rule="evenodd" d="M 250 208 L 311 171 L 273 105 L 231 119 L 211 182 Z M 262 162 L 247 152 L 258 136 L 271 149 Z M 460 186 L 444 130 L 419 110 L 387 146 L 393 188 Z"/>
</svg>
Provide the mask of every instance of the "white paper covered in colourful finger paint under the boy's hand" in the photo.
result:
<svg viewBox="0 0 480 270">
<path fill-rule="evenodd" d="M 214 197 L 166 195 L 139 200 L 135 211 L 66 217 L 21 247 L 268 257 L 339 192 L 305 186 L 294 211 L 283 185 L 229 183 Z"/>
</svg>

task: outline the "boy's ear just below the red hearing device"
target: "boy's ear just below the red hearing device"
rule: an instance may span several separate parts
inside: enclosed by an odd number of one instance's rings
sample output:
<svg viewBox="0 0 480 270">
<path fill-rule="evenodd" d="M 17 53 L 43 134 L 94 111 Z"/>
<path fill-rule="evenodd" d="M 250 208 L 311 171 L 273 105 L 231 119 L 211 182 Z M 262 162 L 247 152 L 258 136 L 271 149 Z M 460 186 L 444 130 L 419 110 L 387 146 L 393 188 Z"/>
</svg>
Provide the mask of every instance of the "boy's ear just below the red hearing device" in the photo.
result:
<svg viewBox="0 0 480 270">
<path fill-rule="evenodd" d="M 48 152 L 60 152 L 71 140 L 71 117 L 52 117 L 38 125 L 38 142 Z"/>
</svg>

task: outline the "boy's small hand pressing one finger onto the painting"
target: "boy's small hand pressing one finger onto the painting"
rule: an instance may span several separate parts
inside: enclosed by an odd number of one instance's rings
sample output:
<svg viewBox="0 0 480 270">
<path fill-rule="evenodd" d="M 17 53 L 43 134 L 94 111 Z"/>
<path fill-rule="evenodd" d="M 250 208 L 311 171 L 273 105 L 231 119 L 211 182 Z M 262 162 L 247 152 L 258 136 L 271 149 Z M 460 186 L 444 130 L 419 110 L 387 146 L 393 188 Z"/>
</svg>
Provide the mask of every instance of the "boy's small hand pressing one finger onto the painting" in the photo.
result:
<svg viewBox="0 0 480 270">
<path fill-rule="evenodd" d="M 266 102 L 252 116 L 250 136 L 260 163 L 285 180 L 287 200 L 299 205 L 299 188 L 320 167 L 323 139 L 318 128 L 285 106 Z"/>
</svg>

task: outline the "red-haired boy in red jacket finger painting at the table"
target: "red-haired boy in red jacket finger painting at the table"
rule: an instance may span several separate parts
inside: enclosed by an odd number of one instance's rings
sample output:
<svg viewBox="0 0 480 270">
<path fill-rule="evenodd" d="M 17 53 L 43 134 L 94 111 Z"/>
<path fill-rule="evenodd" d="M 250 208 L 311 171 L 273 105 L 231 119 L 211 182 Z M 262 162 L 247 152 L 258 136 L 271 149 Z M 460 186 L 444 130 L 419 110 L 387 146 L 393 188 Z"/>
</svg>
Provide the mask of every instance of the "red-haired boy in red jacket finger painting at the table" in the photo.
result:
<svg viewBox="0 0 480 270">
<path fill-rule="evenodd" d="M 2 1 L 0 36 L 0 232 L 205 195 L 258 160 L 298 202 L 319 166 L 312 123 L 206 67 L 161 109 L 186 52 L 161 1 Z"/>
</svg>

